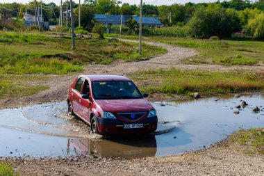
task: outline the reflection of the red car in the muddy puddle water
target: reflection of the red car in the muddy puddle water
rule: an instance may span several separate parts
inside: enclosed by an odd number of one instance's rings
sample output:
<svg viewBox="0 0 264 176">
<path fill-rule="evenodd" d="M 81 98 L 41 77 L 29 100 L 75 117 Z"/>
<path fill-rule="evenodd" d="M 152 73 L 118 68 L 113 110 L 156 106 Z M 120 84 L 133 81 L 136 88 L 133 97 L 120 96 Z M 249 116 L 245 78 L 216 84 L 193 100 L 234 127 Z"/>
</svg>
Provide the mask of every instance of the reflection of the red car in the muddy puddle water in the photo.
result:
<svg viewBox="0 0 264 176">
<path fill-rule="evenodd" d="M 72 139 L 70 144 L 76 154 L 92 154 L 97 157 L 154 157 L 157 151 L 155 136 Z"/>
</svg>

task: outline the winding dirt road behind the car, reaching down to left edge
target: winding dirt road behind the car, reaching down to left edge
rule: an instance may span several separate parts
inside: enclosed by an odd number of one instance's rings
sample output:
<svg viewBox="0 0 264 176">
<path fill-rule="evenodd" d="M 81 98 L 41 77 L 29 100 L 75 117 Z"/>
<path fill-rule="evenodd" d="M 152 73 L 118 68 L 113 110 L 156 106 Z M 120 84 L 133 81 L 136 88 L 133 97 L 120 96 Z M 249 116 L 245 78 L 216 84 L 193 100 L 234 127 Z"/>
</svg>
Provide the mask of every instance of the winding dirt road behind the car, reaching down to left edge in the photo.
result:
<svg viewBox="0 0 264 176">
<path fill-rule="evenodd" d="M 133 40 L 125 40 L 133 41 Z M 135 42 L 135 41 L 133 41 Z M 207 71 L 233 71 L 233 70 L 251 70 L 254 72 L 263 72 L 264 65 L 261 63 L 256 66 L 222 66 L 222 65 L 184 65 L 181 60 L 194 56 L 197 54 L 195 49 L 175 47 L 172 45 L 166 45 L 158 42 L 146 42 L 149 45 L 156 45 L 167 49 L 167 54 L 155 56 L 149 58 L 146 61 L 138 62 L 122 62 L 116 61 L 110 65 L 97 65 L 92 64 L 85 67 L 85 71 L 79 74 L 126 74 L 131 72 L 137 72 L 148 69 L 169 69 L 176 67 L 184 70 L 207 70 Z M 43 77 L 46 77 L 43 75 Z M 50 76 L 49 76 L 50 77 Z M 26 106 L 31 104 L 42 104 L 46 102 L 60 102 L 67 97 L 67 89 L 72 80 L 76 77 L 74 75 L 51 76 L 49 81 L 37 81 L 38 84 L 47 85 L 50 88 L 44 90 L 36 95 L 30 95 L 27 97 L 15 97 L 10 99 L 0 99 L 0 109 L 15 108 L 19 106 Z M 32 82 L 34 84 L 35 82 Z M 170 98 L 170 97 L 168 97 Z M 166 97 L 165 97 L 166 99 Z"/>
</svg>

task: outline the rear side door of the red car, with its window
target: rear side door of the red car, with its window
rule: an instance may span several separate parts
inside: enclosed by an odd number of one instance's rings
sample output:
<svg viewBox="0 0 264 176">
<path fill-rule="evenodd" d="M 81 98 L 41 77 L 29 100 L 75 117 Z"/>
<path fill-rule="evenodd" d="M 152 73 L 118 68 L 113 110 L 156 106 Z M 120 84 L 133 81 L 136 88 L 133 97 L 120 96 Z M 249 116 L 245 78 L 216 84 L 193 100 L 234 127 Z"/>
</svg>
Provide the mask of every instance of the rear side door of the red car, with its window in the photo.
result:
<svg viewBox="0 0 264 176">
<path fill-rule="evenodd" d="M 74 113 L 82 118 L 82 109 L 81 109 L 81 88 L 83 86 L 84 78 L 80 77 L 75 84 L 74 89 L 72 90 L 72 108 Z"/>
</svg>

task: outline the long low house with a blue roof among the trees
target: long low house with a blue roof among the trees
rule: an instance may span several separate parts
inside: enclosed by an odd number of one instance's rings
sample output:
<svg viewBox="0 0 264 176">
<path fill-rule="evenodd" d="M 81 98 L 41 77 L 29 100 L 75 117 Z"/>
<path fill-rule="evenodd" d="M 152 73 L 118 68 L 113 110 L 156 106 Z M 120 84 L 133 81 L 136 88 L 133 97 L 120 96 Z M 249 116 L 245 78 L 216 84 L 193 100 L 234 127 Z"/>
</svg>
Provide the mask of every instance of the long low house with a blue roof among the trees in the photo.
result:
<svg viewBox="0 0 264 176">
<path fill-rule="evenodd" d="M 105 26 L 116 26 L 121 24 L 126 26 L 126 20 L 129 18 L 135 19 L 138 23 L 140 23 L 140 17 L 131 16 L 131 15 L 102 15 L 95 14 L 94 19 L 99 24 L 104 24 Z M 142 26 L 150 27 L 150 26 L 163 26 L 160 20 L 157 17 L 142 17 Z"/>
</svg>

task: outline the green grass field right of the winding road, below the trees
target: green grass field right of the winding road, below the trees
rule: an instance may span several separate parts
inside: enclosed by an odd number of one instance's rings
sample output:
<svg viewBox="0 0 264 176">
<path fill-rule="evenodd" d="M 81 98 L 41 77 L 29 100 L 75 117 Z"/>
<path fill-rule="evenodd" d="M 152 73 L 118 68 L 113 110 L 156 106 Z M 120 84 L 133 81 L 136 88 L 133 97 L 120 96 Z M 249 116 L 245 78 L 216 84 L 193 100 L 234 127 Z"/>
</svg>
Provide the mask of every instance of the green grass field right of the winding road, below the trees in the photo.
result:
<svg viewBox="0 0 264 176">
<path fill-rule="evenodd" d="M 116 38 L 138 40 L 135 35 L 115 35 Z M 255 65 L 264 63 L 264 42 L 252 40 L 206 40 L 192 38 L 143 37 L 143 41 L 162 42 L 199 51 L 186 58 L 185 64 Z"/>
</svg>

